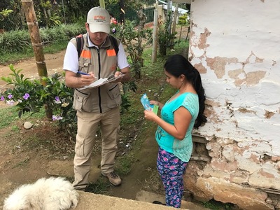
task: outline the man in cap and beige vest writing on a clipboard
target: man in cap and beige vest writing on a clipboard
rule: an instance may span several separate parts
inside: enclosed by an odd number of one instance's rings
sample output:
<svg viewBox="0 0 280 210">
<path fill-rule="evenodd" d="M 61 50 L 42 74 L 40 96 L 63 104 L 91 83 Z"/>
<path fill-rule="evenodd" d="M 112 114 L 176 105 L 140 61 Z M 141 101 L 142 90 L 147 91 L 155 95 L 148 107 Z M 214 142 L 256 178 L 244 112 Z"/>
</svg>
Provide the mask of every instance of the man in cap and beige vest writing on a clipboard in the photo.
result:
<svg viewBox="0 0 280 210">
<path fill-rule="evenodd" d="M 120 124 L 120 82 L 130 80 L 130 65 L 127 62 L 122 43 L 117 39 L 118 54 L 110 33 L 110 15 L 107 10 L 94 7 L 87 13 L 87 33 L 83 34 L 83 51 L 78 55 L 76 38 L 72 38 L 64 57 L 65 83 L 75 88 L 73 107 L 77 111 L 78 131 L 76 135 L 75 158 L 73 160 L 74 188 L 85 190 L 90 174 L 90 156 L 94 137 L 100 125 L 102 133 L 102 175 L 113 186 L 119 186 L 120 176 L 114 172 Z M 116 47 L 116 46 L 115 46 Z M 117 71 L 117 66 L 120 71 Z M 81 73 L 78 73 L 81 72 Z M 79 90 L 90 85 L 97 78 L 115 77 L 113 83 Z"/>
</svg>

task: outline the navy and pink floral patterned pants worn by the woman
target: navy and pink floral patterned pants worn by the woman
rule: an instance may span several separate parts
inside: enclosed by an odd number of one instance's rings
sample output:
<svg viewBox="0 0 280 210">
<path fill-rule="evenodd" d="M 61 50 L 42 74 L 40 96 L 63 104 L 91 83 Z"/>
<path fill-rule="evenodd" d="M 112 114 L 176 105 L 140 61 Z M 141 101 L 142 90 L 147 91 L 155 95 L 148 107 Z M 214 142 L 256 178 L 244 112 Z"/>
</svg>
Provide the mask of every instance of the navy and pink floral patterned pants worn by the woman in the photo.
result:
<svg viewBox="0 0 280 210">
<path fill-rule="evenodd" d="M 183 162 L 174 154 L 162 148 L 158 151 L 157 169 L 165 187 L 167 206 L 180 208 L 183 196 L 183 174 L 188 162 Z"/>
</svg>

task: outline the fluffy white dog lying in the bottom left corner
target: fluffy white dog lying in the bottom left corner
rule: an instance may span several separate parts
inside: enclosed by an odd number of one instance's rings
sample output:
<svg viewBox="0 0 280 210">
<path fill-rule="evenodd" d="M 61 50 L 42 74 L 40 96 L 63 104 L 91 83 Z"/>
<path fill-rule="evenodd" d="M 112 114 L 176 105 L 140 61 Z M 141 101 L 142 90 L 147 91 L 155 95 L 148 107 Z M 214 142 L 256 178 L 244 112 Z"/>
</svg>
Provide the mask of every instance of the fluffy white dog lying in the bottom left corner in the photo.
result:
<svg viewBox="0 0 280 210">
<path fill-rule="evenodd" d="M 51 177 L 17 188 L 6 198 L 3 210 L 64 210 L 77 204 L 78 192 L 71 183 Z"/>
</svg>

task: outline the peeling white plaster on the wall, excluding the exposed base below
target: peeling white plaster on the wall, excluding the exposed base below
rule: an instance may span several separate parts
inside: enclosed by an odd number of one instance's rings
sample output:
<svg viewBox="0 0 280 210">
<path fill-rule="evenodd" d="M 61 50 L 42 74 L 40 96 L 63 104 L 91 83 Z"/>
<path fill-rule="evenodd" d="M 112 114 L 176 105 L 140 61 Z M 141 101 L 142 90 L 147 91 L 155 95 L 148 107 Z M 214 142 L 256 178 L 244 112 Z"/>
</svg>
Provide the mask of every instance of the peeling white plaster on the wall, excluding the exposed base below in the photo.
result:
<svg viewBox="0 0 280 210">
<path fill-rule="evenodd" d="M 211 167 L 217 167 L 215 158 L 220 165 L 223 159 L 236 162 L 238 169 L 248 172 L 244 180 L 251 186 L 278 190 L 279 11 L 279 0 L 194 0 L 189 50 L 208 104 L 208 122 L 197 132 L 210 140 L 220 139 L 207 145 L 209 151 L 221 146 L 222 153 L 227 143 L 221 139 L 236 143 L 233 160 L 213 155 Z M 270 159 L 262 161 L 264 155 Z M 261 176 L 271 179 L 258 183 L 255 177 Z"/>
</svg>

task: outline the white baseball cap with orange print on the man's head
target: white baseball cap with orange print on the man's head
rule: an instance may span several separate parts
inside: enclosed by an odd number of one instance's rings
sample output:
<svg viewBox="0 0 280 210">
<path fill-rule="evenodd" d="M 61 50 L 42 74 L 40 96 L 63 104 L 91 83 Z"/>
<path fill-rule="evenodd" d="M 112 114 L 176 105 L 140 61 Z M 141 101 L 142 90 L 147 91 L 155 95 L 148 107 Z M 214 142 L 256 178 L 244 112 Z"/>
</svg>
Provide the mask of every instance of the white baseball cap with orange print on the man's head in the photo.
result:
<svg viewBox="0 0 280 210">
<path fill-rule="evenodd" d="M 110 15 L 108 11 L 100 6 L 91 8 L 87 13 L 87 23 L 90 32 L 110 33 Z"/>
</svg>

